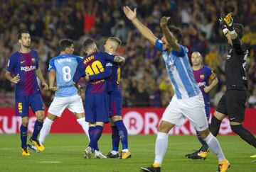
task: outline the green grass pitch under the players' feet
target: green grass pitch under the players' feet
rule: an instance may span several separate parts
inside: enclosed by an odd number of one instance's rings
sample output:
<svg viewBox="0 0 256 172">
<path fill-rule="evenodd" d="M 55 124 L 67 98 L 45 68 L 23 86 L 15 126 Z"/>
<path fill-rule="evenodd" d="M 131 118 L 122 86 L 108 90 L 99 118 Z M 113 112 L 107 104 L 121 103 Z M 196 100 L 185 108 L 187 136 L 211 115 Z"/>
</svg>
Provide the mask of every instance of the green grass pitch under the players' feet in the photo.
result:
<svg viewBox="0 0 256 172">
<path fill-rule="evenodd" d="M 150 166 L 154 161 L 155 135 L 129 136 L 132 159 L 84 159 L 87 147 L 84 134 L 50 134 L 44 144 L 43 153 L 30 151 L 31 156 L 21 156 L 19 134 L 0 134 L 0 171 L 139 171 L 140 166 Z M 218 136 L 232 171 L 256 171 L 256 163 L 250 156 L 256 154 L 240 137 Z M 99 146 L 104 154 L 111 149 L 111 135 L 103 134 Z M 120 145 L 121 146 L 121 145 Z M 218 160 L 210 151 L 203 160 L 186 159 L 184 154 L 198 149 L 200 144 L 195 136 L 169 136 L 169 147 L 164 158 L 162 171 L 216 171 Z M 120 149 L 120 148 L 119 148 Z"/>
</svg>

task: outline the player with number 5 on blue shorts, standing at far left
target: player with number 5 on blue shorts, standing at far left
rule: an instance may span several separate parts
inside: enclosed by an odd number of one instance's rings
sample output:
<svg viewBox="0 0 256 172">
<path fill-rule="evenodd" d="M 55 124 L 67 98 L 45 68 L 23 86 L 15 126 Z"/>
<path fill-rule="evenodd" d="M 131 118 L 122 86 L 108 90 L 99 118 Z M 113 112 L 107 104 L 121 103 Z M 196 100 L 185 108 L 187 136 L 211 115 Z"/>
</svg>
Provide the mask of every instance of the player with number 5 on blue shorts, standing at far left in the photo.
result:
<svg viewBox="0 0 256 172">
<path fill-rule="evenodd" d="M 27 30 L 18 33 L 18 43 L 21 49 L 14 52 L 9 57 L 6 67 L 6 79 L 16 84 L 15 110 L 16 115 L 21 116 L 21 148 L 23 156 L 30 156 L 26 140 L 28 137 L 28 110 L 32 108 L 36 114 L 36 122 L 30 141 L 39 151 L 43 151 L 43 144 L 38 142 L 38 134 L 43 127 L 43 100 L 38 87 L 36 76 L 40 79 L 44 90 L 48 90 L 48 85 L 43 79 L 41 70 L 38 68 L 38 52 L 31 50 L 31 36 Z M 14 74 L 12 76 L 11 74 Z"/>
</svg>

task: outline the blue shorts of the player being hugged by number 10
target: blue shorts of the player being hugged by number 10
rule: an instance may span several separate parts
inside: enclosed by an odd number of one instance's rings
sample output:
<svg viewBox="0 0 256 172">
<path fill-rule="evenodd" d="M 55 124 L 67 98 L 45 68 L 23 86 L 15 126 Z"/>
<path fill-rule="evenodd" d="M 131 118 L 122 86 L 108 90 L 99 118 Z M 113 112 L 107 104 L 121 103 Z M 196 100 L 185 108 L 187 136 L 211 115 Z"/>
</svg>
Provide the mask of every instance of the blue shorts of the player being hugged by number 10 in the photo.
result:
<svg viewBox="0 0 256 172">
<path fill-rule="evenodd" d="M 110 98 L 110 117 L 122 115 L 122 93 L 119 90 L 114 90 L 109 93 Z"/>
</svg>

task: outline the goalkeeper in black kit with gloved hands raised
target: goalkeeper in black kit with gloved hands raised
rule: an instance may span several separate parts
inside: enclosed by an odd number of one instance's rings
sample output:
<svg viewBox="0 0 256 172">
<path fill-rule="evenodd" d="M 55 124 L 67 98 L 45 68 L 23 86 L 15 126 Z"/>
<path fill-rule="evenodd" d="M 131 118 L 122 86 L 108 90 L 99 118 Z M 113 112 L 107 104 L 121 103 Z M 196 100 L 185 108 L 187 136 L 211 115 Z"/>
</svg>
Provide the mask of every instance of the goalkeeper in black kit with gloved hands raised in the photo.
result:
<svg viewBox="0 0 256 172">
<path fill-rule="evenodd" d="M 228 51 L 225 62 L 225 76 L 227 91 L 220 98 L 220 102 L 215 110 L 210 124 L 210 132 L 217 136 L 220 130 L 222 120 L 228 115 L 230 118 L 230 127 L 233 132 L 238 134 L 241 139 L 245 140 L 252 147 L 256 148 L 256 138 L 242 126 L 245 120 L 245 101 L 247 98 L 247 77 L 245 74 L 246 58 L 248 50 L 242 44 L 241 38 L 244 32 L 242 24 L 233 23 L 233 13 L 222 13 L 220 16 L 220 28 L 228 39 L 230 50 Z M 206 159 L 199 155 L 201 151 L 207 152 L 208 146 L 204 144 L 199 152 L 187 156 L 189 159 Z"/>
</svg>

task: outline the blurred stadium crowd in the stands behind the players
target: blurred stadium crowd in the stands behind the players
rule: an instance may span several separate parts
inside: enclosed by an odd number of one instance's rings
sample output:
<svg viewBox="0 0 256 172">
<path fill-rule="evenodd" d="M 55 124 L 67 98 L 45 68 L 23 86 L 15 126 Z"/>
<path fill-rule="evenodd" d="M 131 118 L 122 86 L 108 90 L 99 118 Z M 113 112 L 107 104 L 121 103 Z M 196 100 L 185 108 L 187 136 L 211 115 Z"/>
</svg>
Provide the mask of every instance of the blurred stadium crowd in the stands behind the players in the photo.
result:
<svg viewBox="0 0 256 172">
<path fill-rule="evenodd" d="M 178 0 L 2 0 L 0 4 L 0 107 L 14 107 L 14 84 L 6 81 L 4 70 L 12 52 L 18 50 L 16 35 L 29 30 L 32 45 L 39 53 L 40 67 L 45 78 L 50 58 L 59 54 L 58 41 L 75 40 L 75 54 L 84 56 L 82 42 L 93 38 L 100 50 L 107 37 L 122 40 L 119 54 L 127 58 L 122 67 L 124 107 L 165 107 L 174 90 L 167 76 L 161 53 L 145 42 L 132 23 L 122 13 L 122 6 L 139 8 L 137 14 L 161 38 L 161 16 L 171 16 L 183 32 L 183 45 L 201 52 L 204 63 L 217 74 L 219 83 L 210 96 L 216 105 L 225 91 L 224 64 L 228 44 L 219 28 L 218 15 L 233 11 L 235 22 L 245 26 L 242 41 L 250 51 L 247 58 L 249 84 L 248 107 L 256 108 L 256 1 L 178 1 Z M 54 93 L 43 91 L 46 106 Z"/>
</svg>

